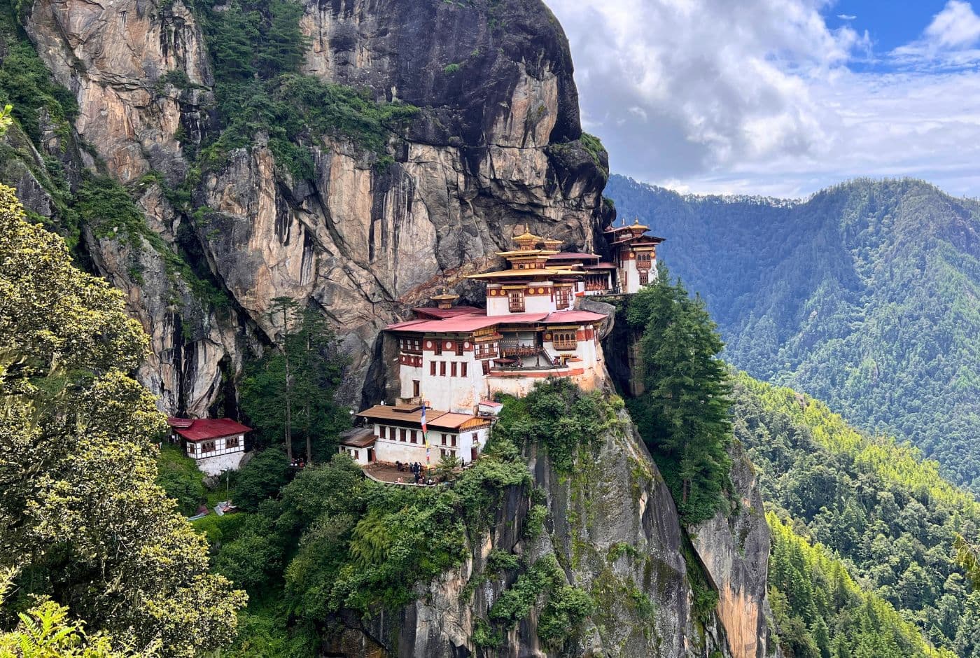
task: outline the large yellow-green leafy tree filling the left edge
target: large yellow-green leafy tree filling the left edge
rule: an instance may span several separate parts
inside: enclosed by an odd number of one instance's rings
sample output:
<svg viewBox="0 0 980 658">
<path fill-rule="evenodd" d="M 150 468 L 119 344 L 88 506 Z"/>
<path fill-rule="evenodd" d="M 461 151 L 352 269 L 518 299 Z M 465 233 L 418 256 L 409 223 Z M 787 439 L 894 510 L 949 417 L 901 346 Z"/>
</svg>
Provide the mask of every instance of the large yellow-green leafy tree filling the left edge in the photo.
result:
<svg viewBox="0 0 980 658">
<path fill-rule="evenodd" d="M 244 594 L 154 483 L 166 431 L 126 373 L 148 338 L 123 296 L 0 186 L 0 556 L 18 596 L 167 656 L 227 643 Z"/>
</svg>

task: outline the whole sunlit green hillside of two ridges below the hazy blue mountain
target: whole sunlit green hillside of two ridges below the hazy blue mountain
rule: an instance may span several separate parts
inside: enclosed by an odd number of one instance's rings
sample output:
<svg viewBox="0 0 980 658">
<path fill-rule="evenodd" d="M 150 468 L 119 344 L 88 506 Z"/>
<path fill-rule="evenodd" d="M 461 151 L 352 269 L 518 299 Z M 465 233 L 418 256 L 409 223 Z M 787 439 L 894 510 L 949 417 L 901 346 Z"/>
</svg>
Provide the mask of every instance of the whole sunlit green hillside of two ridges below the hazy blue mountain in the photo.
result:
<svg viewBox="0 0 980 658">
<path fill-rule="evenodd" d="M 894 622 L 897 610 L 942 655 L 980 658 L 980 589 L 964 582 L 951 550 L 957 532 L 977 541 L 980 503 L 934 462 L 861 434 L 809 396 L 737 374 L 733 398 L 735 437 L 766 510 L 781 519 L 769 517 L 769 585 L 785 653 L 938 655 L 901 624 L 862 620 L 870 604 L 874 619 Z M 818 544 L 816 554 L 788 533 Z"/>
</svg>

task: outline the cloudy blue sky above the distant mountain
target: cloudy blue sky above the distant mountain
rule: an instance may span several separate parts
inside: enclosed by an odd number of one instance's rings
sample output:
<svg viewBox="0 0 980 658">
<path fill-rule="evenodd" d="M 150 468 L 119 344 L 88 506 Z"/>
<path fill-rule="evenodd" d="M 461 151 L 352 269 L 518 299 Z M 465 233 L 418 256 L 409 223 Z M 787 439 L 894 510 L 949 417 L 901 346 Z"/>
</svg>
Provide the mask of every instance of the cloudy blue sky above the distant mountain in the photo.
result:
<svg viewBox="0 0 980 658">
<path fill-rule="evenodd" d="M 613 171 L 804 196 L 919 177 L 980 196 L 980 0 L 547 0 Z"/>
</svg>

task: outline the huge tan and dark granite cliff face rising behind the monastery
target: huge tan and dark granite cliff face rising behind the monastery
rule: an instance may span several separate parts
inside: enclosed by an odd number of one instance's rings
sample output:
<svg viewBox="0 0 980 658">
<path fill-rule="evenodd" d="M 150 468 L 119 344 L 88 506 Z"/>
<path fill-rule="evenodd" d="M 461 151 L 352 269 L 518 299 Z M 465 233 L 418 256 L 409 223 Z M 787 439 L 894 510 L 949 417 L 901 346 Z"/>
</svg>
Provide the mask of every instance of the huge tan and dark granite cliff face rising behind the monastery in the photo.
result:
<svg viewBox="0 0 980 658">
<path fill-rule="evenodd" d="M 121 253 L 86 235 L 92 262 L 154 338 L 141 376 L 165 411 L 203 415 L 222 401 L 243 356 L 281 332 L 269 310 L 283 295 L 319 307 L 337 330 L 353 358 L 346 400 L 372 399 L 383 385 L 365 387 L 378 331 L 406 308 L 493 266 L 518 226 L 591 248 L 603 222 L 605 152 L 578 141 L 567 43 L 540 2 L 311 1 L 300 27 L 303 73 L 420 108 L 389 140 L 394 164 L 376 167 L 327 136 L 312 148 L 313 176 L 295 180 L 258 133 L 177 209 L 165 185 L 184 181 L 188 149 L 214 128 L 195 15 L 179 0 L 37 0 L 25 19 L 77 98 L 73 127 L 91 148 L 76 159 L 127 183 L 150 228 L 194 254 L 230 300 L 221 312 L 188 296 L 152 245 Z M 33 205 L 45 214 L 43 198 Z"/>
</svg>

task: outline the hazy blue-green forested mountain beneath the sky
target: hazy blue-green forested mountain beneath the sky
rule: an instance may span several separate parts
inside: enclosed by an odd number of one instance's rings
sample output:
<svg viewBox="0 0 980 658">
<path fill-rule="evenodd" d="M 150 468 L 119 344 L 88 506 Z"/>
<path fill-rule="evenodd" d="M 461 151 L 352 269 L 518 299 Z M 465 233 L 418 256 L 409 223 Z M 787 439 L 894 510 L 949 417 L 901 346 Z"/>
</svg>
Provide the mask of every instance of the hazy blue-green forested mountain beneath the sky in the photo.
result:
<svg viewBox="0 0 980 658">
<path fill-rule="evenodd" d="M 726 358 L 908 438 L 980 491 L 980 203 L 858 179 L 806 201 L 682 196 L 613 176 L 618 216 L 667 238 Z"/>
</svg>

